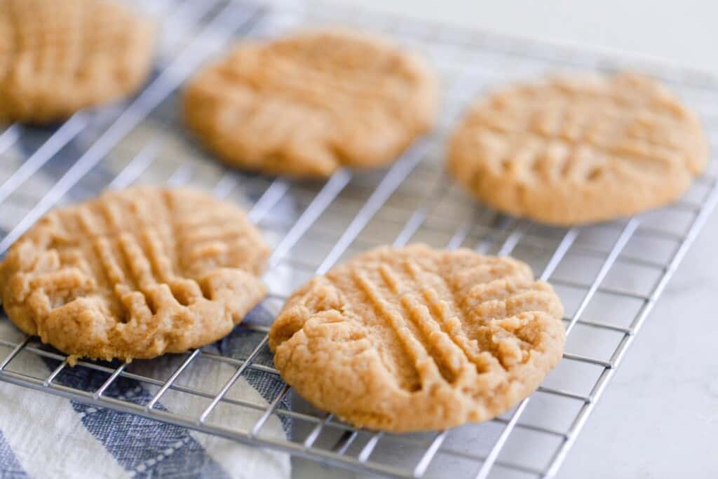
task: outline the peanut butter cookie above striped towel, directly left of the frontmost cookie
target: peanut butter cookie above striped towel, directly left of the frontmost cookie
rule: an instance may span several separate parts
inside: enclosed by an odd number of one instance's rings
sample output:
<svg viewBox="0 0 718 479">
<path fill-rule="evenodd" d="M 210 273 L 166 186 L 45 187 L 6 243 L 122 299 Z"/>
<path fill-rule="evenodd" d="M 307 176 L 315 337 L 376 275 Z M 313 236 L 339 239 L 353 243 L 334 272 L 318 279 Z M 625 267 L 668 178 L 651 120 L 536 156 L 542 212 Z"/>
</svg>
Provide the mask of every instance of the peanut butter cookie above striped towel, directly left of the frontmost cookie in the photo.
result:
<svg viewBox="0 0 718 479">
<path fill-rule="evenodd" d="M 73 358 L 152 358 L 227 335 L 264 297 L 268 255 L 235 205 L 133 187 L 45 215 L 0 264 L 0 291 L 21 330 Z"/>
</svg>

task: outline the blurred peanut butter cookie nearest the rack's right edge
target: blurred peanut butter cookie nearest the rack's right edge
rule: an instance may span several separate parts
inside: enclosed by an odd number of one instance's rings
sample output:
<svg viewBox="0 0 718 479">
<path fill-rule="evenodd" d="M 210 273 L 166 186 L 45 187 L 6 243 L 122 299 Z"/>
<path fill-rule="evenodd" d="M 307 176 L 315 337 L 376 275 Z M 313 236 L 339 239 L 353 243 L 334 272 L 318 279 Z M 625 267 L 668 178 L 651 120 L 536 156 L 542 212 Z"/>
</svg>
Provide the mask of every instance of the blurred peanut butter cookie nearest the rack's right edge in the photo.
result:
<svg viewBox="0 0 718 479">
<path fill-rule="evenodd" d="M 698 119 L 655 80 L 552 78 L 481 98 L 449 140 L 468 192 L 511 215 L 571 225 L 676 200 L 707 164 Z"/>
</svg>

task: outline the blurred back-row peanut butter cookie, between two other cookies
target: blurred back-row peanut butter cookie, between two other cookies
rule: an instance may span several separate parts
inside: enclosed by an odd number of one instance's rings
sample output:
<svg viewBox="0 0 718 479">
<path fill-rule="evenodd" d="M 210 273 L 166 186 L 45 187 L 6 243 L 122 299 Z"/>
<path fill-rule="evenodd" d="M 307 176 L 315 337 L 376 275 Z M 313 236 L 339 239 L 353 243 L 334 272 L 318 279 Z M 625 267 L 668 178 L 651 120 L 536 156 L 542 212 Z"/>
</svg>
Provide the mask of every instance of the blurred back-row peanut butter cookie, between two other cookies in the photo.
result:
<svg viewBox="0 0 718 479">
<path fill-rule="evenodd" d="M 190 80 L 183 105 L 228 164 L 324 177 L 396 159 L 434 124 L 437 80 L 386 39 L 319 29 L 242 42 Z"/>
</svg>

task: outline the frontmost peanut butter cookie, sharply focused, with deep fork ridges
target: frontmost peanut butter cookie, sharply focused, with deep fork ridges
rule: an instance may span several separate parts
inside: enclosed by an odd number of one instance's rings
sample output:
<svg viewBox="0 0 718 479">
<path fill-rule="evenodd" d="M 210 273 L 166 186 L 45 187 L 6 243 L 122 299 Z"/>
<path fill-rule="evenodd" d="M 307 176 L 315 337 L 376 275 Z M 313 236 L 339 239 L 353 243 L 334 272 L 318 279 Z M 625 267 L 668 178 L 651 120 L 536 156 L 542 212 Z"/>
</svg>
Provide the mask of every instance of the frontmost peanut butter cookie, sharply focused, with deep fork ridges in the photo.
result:
<svg viewBox="0 0 718 479">
<path fill-rule="evenodd" d="M 443 429 L 531 394 L 561 358 L 562 315 L 521 261 L 383 247 L 295 292 L 269 346 L 287 383 L 348 422 Z"/>
</svg>

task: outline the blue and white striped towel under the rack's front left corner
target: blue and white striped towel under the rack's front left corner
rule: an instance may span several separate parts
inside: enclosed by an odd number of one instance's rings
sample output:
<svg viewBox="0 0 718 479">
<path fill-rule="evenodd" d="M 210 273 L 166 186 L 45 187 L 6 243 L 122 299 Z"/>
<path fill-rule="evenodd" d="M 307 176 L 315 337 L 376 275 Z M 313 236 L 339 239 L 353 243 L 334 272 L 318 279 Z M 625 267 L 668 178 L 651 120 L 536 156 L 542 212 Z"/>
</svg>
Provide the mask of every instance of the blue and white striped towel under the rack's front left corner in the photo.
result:
<svg viewBox="0 0 718 479">
<path fill-rule="evenodd" d="M 237 335 L 243 335 L 242 330 L 210 348 L 225 348 L 222 353 L 234 355 L 238 350 L 226 348 L 243 343 Z M 2 319 L 0 337 L 17 340 L 22 335 L 8 320 Z M 25 353 L 11 363 L 11 369 L 47 377 L 57 364 L 57 361 Z M 139 366 L 134 368 L 136 373 L 167 377 L 176 362 L 159 358 L 136 366 Z M 188 375 L 183 374 L 182 384 L 218 391 L 235 369 L 219 361 L 200 361 L 193 363 Z M 67 386 L 92 390 L 106 378 L 106 374 L 75 367 L 66 368 L 58 380 Z M 267 399 L 276 396 L 281 387 L 279 379 L 255 373 L 239 378 L 227 397 L 268 404 Z M 157 386 L 118 378 L 107 395 L 145 404 L 157 389 Z M 207 401 L 190 394 L 166 394 L 157 405 L 159 409 L 194 417 L 206 406 Z M 219 407 L 213 412 L 212 422 L 247 430 L 256 420 L 257 414 L 251 410 Z M 263 436 L 274 439 L 286 437 L 287 432 L 288 425 L 276 416 L 262 429 Z M 0 478 L 273 479 L 287 478 L 289 472 L 289 457 L 279 452 L 0 381 Z"/>
</svg>

